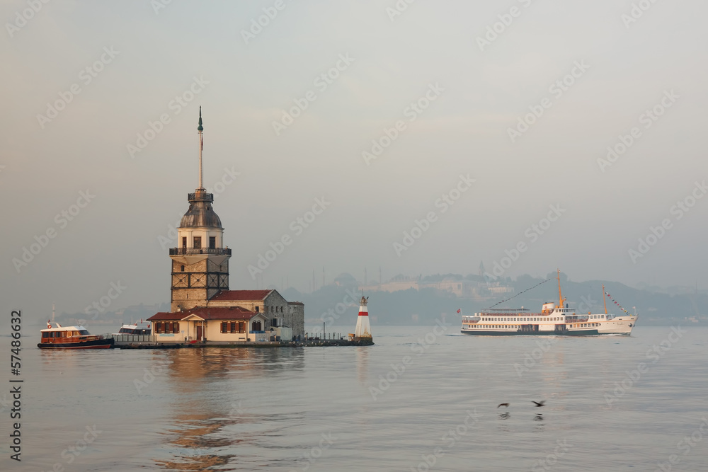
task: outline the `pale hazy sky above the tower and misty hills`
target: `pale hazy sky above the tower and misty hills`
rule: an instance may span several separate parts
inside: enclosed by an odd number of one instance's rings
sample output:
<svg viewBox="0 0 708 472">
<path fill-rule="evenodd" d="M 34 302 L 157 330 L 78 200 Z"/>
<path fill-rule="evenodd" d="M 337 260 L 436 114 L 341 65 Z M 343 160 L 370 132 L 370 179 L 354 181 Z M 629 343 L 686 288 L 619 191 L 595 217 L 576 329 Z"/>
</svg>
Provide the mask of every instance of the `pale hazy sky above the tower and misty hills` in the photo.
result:
<svg viewBox="0 0 708 472">
<path fill-rule="evenodd" d="M 0 6 L 6 311 L 169 301 L 199 105 L 232 289 L 285 235 L 263 282 L 303 291 L 520 243 L 505 277 L 708 286 L 704 1 L 32 3 Z"/>
</svg>

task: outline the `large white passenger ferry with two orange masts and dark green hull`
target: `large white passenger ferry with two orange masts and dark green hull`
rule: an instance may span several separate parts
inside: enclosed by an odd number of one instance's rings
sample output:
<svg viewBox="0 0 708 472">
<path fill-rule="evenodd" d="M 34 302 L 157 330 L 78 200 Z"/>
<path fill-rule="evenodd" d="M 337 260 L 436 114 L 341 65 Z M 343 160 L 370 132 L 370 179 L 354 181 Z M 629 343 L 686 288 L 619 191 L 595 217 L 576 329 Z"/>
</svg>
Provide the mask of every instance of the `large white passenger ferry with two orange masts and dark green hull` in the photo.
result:
<svg viewBox="0 0 708 472">
<path fill-rule="evenodd" d="M 636 324 L 636 315 L 615 316 L 607 313 L 605 286 L 603 302 L 605 313 L 576 313 L 568 308 L 561 294 L 561 277 L 558 272 L 558 305 L 545 303 L 540 313 L 528 309 L 487 309 L 474 316 L 462 316 L 461 333 L 472 335 L 629 335 Z M 564 307 L 565 306 L 565 307 Z"/>
</svg>

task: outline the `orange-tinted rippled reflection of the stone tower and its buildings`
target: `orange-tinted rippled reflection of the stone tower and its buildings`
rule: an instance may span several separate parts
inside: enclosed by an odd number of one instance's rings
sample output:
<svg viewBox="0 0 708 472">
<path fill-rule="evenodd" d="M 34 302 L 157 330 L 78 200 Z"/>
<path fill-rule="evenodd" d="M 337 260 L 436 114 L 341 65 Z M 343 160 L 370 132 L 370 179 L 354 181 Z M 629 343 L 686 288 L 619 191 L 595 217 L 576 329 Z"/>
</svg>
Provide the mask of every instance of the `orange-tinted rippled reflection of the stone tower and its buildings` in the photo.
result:
<svg viewBox="0 0 708 472">
<path fill-rule="evenodd" d="M 171 350 L 156 353 L 154 362 L 168 366 L 174 407 L 166 431 L 171 454 L 154 459 L 161 468 L 235 470 L 236 457 L 239 467 L 262 460 L 255 451 L 265 438 L 285 436 L 283 425 L 305 421 L 304 413 L 291 408 L 282 413 L 280 408 L 292 405 L 287 392 L 273 388 L 277 377 L 287 381 L 300 375 L 302 349 Z M 247 392 L 242 390 L 244 380 L 249 380 Z"/>
</svg>

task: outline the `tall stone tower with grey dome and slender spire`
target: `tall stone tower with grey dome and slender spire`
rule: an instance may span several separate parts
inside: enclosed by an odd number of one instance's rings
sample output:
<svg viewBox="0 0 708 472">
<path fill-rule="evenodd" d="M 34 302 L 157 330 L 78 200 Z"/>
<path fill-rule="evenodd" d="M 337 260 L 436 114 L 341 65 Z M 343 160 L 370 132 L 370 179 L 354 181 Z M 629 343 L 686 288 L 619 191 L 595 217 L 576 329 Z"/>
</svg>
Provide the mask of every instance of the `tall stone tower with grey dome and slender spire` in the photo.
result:
<svg viewBox="0 0 708 472">
<path fill-rule="evenodd" d="M 224 247 L 224 228 L 212 209 L 214 194 L 202 185 L 202 108 L 199 108 L 199 187 L 187 194 L 189 209 L 177 229 L 172 259 L 171 311 L 207 306 L 207 301 L 229 289 L 231 249 Z"/>
</svg>

